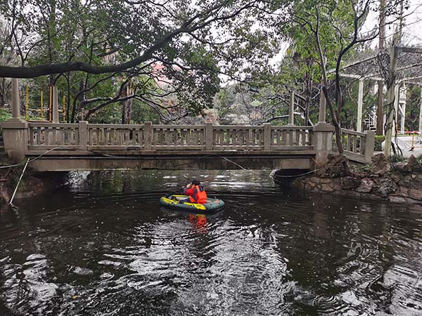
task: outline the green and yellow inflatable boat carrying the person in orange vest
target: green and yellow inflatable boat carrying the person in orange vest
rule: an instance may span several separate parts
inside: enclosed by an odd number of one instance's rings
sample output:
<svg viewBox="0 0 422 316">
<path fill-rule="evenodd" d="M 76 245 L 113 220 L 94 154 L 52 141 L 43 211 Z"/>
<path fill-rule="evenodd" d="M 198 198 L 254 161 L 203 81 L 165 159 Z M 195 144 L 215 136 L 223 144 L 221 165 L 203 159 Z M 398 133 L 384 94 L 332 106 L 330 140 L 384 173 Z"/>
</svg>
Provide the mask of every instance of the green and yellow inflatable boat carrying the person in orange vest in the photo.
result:
<svg viewBox="0 0 422 316">
<path fill-rule="evenodd" d="M 218 211 L 224 207 L 224 202 L 221 199 L 210 199 L 209 197 L 207 198 L 207 203 L 205 204 L 180 202 L 187 197 L 187 195 L 170 195 L 170 197 L 162 197 L 160 199 L 160 204 L 167 209 L 202 213 Z"/>
</svg>

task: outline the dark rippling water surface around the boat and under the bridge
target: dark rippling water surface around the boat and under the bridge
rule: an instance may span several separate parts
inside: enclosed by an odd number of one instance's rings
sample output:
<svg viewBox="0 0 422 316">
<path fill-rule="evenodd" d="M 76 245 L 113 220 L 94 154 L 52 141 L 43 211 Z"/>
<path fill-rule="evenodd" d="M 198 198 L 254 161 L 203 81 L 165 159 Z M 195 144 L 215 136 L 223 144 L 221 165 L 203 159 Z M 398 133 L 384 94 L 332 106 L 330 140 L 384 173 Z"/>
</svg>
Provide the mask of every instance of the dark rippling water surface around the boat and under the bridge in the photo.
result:
<svg viewBox="0 0 422 316">
<path fill-rule="evenodd" d="M 226 208 L 161 209 L 193 176 Z M 0 213 L 0 315 L 422 315 L 420 206 L 260 171 L 79 174 Z"/>
</svg>

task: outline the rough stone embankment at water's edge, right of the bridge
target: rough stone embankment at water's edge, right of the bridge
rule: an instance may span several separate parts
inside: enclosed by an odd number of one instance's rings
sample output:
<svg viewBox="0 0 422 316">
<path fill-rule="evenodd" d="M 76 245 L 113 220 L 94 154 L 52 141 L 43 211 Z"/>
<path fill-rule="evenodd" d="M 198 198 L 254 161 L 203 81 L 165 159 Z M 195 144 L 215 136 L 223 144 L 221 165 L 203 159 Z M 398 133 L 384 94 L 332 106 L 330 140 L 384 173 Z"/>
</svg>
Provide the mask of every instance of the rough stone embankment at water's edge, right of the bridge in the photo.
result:
<svg viewBox="0 0 422 316">
<path fill-rule="evenodd" d="M 328 163 L 311 176 L 297 178 L 293 187 L 349 197 L 384 199 L 422 204 L 422 162 L 414 156 L 391 164 L 384 154 L 372 157 L 368 169 L 344 169 L 345 157 L 330 156 Z"/>
</svg>

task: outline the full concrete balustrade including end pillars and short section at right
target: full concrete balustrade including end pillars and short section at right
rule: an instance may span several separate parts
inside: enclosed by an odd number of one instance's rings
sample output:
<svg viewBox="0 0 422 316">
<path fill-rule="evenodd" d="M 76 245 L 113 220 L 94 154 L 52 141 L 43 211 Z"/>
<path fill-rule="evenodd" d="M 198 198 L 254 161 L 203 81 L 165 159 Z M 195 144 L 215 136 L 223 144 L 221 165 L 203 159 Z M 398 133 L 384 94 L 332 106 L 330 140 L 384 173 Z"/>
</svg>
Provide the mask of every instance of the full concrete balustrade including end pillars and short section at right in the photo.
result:
<svg viewBox="0 0 422 316">
<path fill-rule="evenodd" d="M 60 156 L 96 152 L 276 152 L 314 154 L 319 162 L 331 151 L 333 127 L 326 126 L 221 126 L 145 124 L 78 124 L 6 121 L 2 124 L 5 150 L 16 161 L 30 155 Z M 346 156 L 355 162 L 369 163 L 374 134 L 343 129 Z"/>
</svg>

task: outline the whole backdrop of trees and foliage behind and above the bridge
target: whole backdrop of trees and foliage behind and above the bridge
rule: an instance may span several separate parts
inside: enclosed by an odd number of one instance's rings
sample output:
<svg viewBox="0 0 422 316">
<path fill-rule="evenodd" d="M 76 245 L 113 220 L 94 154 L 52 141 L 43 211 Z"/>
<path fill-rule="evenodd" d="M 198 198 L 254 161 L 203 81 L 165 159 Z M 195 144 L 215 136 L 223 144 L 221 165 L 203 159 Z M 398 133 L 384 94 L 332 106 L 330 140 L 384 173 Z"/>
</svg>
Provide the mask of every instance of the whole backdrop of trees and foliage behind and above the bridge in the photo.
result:
<svg viewBox="0 0 422 316">
<path fill-rule="evenodd" d="M 403 19 L 406 8 L 407 1 L 388 1 L 384 24 Z M 5 1 L 0 77 L 32 78 L 21 81 L 30 108 L 58 86 L 64 121 L 123 124 L 203 117 L 285 124 L 290 91 L 302 96 L 297 124 L 314 124 L 323 82 L 329 119 L 354 128 L 357 82 L 340 78 L 340 67 L 376 51 L 370 44 L 380 27 L 364 25 L 380 10 L 374 0 Z M 274 59 L 280 52 L 283 59 Z M 6 107 L 10 83 L 0 85 Z M 365 86 L 366 112 L 376 106 L 371 89 Z M 418 87 L 409 91 L 413 118 L 417 96 Z"/>
</svg>

